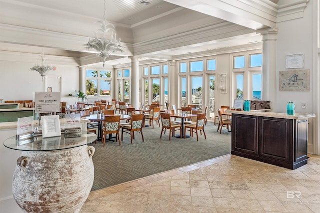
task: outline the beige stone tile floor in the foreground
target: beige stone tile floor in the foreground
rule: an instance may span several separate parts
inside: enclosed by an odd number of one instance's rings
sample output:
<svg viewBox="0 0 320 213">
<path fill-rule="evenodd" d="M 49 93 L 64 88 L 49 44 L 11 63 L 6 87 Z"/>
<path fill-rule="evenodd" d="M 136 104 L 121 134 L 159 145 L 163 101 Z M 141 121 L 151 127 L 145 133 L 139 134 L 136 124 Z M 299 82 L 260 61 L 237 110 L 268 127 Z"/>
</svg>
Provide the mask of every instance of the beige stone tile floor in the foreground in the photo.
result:
<svg viewBox="0 0 320 213">
<path fill-rule="evenodd" d="M 320 213 L 320 156 L 289 170 L 233 155 L 91 192 L 81 213 Z"/>
</svg>

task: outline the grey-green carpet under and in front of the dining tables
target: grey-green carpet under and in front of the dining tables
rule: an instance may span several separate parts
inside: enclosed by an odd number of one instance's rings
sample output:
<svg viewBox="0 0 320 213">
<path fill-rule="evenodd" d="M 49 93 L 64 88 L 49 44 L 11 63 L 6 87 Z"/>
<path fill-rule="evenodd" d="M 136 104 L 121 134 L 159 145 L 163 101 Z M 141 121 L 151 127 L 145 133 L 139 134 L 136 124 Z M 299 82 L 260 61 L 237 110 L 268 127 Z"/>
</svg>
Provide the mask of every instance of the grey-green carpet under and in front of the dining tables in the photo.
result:
<svg viewBox="0 0 320 213">
<path fill-rule="evenodd" d="M 90 144 L 95 147 L 91 191 L 229 154 L 231 133 L 223 127 L 219 134 L 216 128 L 217 125 L 209 122 L 204 127 L 206 140 L 202 134 L 199 141 L 195 134 L 188 139 L 171 137 L 169 141 L 168 131 L 160 139 L 161 128 L 154 126 L 152 129 L 151 126 L 142 130 L 144 142 L 135 132 L 132 144 L 127 133 L 123 133 L 121 146 L 118 142 L 106 142 L 105 147 L 100 141 Z"/>
</svg>

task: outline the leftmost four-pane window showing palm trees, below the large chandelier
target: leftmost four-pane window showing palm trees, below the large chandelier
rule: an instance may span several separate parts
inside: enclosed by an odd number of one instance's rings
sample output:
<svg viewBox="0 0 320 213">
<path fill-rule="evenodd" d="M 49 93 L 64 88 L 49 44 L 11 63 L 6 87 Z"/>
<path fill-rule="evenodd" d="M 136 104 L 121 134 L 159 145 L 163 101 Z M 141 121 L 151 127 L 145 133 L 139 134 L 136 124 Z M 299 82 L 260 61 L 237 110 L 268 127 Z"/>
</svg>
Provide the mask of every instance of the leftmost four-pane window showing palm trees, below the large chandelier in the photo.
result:
<svg viewBox="0 0 320 213">
<path fill-rule="evenodd" d="M 87 69 L 85 76 L 86 95 L 110 95 L 111 71 Z"/>
</svg>

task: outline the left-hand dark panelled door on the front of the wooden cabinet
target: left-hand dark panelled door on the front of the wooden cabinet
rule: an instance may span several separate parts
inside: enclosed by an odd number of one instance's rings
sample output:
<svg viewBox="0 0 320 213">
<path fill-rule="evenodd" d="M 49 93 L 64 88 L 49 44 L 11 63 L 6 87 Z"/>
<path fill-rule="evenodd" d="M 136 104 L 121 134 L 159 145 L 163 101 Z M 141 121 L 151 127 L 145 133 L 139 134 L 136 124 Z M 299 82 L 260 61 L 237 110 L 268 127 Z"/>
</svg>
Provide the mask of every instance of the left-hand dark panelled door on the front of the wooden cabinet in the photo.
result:
<svg viewBox="0 0 320 213">
<path fill-rule="evenodd" d="M 232 151 L 258 155 L 257 120 L 257 116 L 232 114 Z"/>
</svg>

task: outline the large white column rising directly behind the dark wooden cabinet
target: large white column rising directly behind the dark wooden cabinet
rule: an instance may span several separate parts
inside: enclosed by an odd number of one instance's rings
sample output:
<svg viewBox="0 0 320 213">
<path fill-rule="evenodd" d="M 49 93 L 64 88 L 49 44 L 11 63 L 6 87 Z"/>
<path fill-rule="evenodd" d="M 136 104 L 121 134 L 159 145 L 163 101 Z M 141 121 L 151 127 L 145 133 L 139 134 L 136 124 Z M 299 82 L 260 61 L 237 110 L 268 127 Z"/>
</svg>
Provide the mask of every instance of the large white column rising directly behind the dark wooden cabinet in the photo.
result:
<svg viewBox="0 0 320 213">
<path fill-rule="evenodd" d="M 262 35 L 262 100 L 270 101 L 271 111 L 276 112 L 276 34 L 278 29 L 257 30 Z"/>
</svg>

